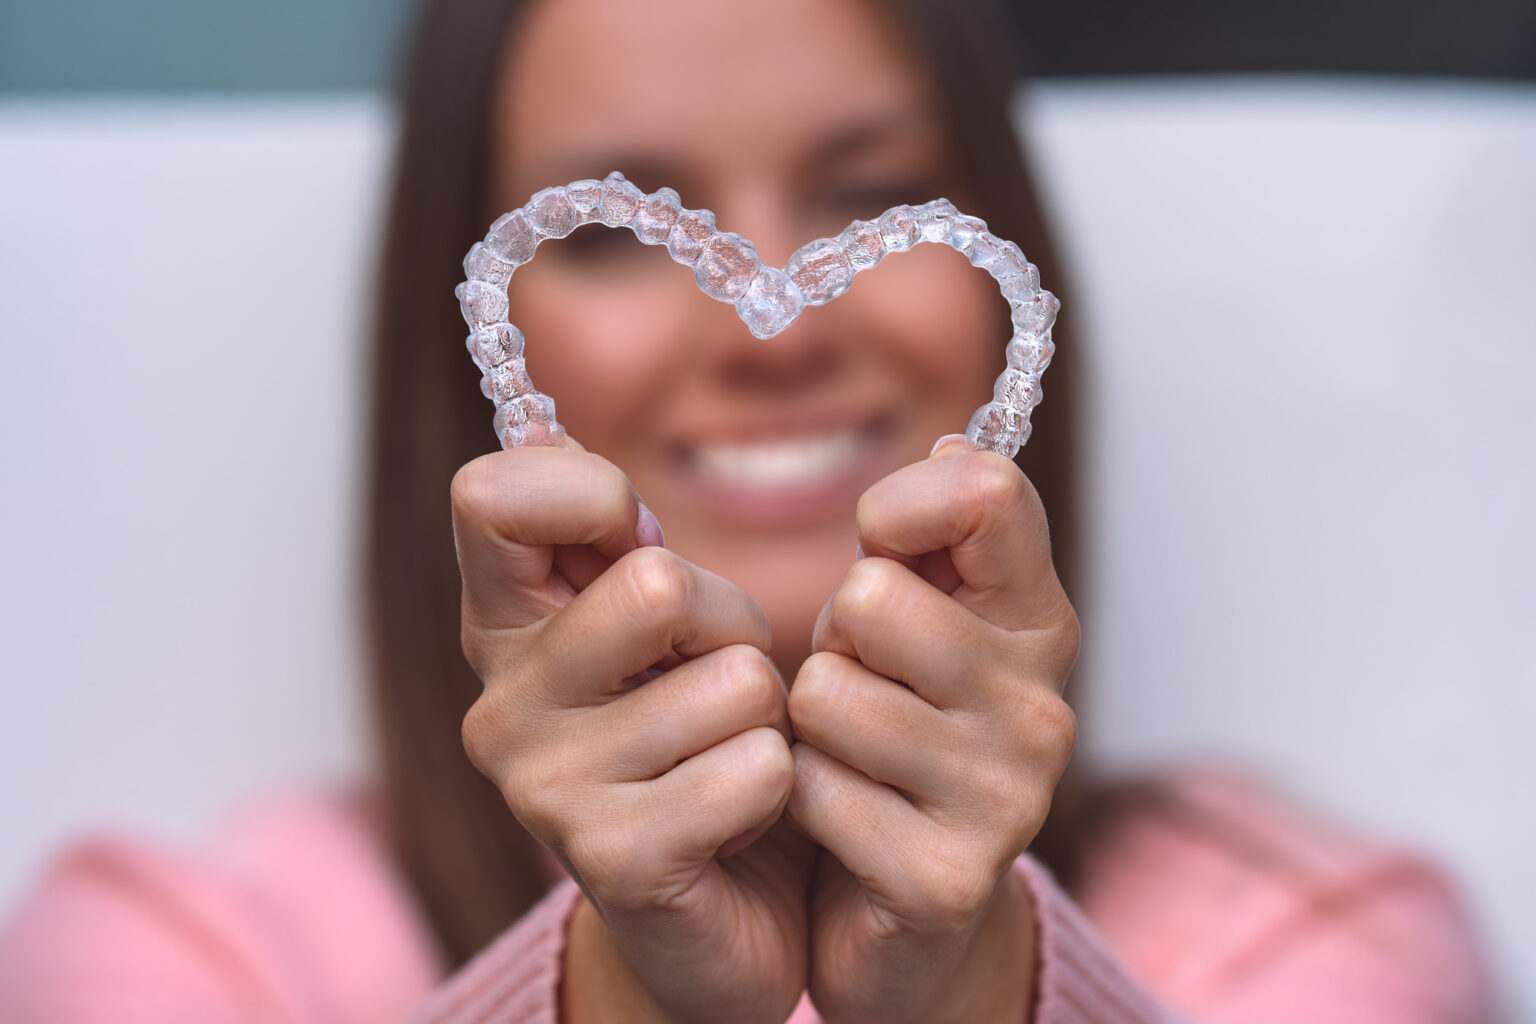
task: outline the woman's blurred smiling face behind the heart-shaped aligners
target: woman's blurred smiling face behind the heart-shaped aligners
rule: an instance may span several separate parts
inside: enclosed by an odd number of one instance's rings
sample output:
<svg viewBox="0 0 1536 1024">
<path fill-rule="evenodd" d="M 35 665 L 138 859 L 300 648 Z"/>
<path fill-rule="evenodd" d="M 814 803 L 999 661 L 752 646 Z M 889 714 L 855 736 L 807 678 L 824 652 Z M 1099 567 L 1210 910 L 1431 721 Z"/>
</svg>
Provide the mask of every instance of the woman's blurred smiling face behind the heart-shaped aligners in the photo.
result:
<svg viewBox="0 0 1536 1024">
<path fill-rule="evenodd" d="M 541 0 L 498 89 L 495 212 L 617 169 L 783 266 L 854 218 L 969 198 L 917 63 L 863 0 Z M 541 246 L 510 298 L 561 422 L 670 548 L 762 603 L 786 672 L 852 562 L 859 494 L 965 428 L 1006 341 L 988 276 L 942 246 L 768 341 L 665 247 L 602 226 Z"/>
</svg>

